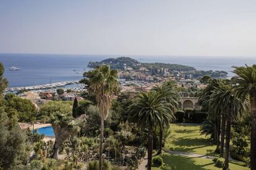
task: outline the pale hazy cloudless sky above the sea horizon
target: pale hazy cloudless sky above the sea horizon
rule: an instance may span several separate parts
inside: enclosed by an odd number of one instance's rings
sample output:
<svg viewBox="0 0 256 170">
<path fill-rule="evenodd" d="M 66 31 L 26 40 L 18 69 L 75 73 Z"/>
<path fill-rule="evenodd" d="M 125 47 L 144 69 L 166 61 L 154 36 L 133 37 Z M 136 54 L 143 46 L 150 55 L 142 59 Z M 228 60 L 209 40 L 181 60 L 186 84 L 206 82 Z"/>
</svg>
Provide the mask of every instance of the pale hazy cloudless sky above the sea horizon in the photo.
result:
<svg viewBox="0 0 256 170">
<path fill-rule="evenodd" d="M 252 0 L 1 0 L 0 52 L 256 56 Z"/>
</svg>

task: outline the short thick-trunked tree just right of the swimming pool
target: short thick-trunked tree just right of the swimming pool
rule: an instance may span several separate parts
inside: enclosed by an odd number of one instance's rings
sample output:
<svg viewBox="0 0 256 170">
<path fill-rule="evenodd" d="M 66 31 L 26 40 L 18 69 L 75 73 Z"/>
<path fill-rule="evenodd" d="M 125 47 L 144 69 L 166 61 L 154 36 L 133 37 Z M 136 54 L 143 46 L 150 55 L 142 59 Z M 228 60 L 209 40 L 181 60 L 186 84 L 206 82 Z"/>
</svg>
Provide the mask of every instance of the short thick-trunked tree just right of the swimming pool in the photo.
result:
<svg viewBox="0 0 256 170">
<path fill-rule="evenodd" d="M 50 122 L 55 134 L 53 158 L 58 160 L 59 147 L 61 147 L 66 139 L 79 132 L 80 127 L 78 126 L 78 122 L 72 117 L 72 113 L 56 112 L 51 116 Z"/>
</svg>

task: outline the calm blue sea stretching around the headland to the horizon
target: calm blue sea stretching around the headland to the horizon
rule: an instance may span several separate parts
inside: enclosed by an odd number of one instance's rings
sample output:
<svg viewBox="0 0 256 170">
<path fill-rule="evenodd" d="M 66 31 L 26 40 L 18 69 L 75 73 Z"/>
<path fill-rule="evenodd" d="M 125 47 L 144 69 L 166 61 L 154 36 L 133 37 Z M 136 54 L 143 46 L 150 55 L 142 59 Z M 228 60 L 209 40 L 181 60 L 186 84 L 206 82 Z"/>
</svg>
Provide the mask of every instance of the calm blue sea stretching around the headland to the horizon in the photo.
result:
<svg viewBox="0 0 256 170">
<path fill-rule="evenodd" d="M 90 70 L 90 61 L 109 57 L 132 57 L 139 62 L 164 62 L 189 65 L 198 70 L 223 70 L 232 76 L 232 66 L 256 64 L 256 57 L 196 57 L 152 55 L 63 55 L 63 54 L 0 54 L 0 62 L 6 68 L 4 77 L 9 87 L 34 86 L 39 84 L 75 81 L 82 79 L 84 71 Z M 10 67 L 20 68 L 9 71 Z M 74 71 L 76 70 L 76 71 Z"/>
</svg>

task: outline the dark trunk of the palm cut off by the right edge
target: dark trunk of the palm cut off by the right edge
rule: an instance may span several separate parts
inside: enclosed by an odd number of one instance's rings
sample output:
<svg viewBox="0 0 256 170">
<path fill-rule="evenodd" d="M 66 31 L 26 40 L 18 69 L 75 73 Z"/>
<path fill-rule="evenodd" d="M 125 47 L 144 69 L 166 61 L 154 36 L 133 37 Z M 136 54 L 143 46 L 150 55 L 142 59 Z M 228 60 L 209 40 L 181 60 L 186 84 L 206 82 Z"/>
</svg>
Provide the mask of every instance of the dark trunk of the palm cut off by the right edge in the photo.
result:
<svg viewBox="0 0 256 170">
<path fill-rule="evenodd" d="M 256 170 L 256 92 L 250 99 L 252 132 L 250 137 L 250 169 Z"/>
</svg>

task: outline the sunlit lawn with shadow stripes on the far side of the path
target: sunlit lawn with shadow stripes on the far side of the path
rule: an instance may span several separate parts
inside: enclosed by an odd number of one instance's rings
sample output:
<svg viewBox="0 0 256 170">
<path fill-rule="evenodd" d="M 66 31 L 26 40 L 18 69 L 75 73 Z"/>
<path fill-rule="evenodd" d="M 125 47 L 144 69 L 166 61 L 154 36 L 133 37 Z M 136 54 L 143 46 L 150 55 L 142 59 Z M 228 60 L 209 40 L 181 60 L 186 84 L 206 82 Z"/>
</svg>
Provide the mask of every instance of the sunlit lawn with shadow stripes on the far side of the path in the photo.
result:
<svg viewBox="0 0 256 170">
<path fill-rule="evenodd" d="M 164 148 L 214 156 L 216 146 L 208 137 L 200 134 L 199 127 L 199 124 L 191 123 L 171 124 L 171 136 Z"/>
</svg>

